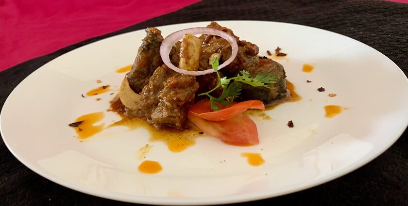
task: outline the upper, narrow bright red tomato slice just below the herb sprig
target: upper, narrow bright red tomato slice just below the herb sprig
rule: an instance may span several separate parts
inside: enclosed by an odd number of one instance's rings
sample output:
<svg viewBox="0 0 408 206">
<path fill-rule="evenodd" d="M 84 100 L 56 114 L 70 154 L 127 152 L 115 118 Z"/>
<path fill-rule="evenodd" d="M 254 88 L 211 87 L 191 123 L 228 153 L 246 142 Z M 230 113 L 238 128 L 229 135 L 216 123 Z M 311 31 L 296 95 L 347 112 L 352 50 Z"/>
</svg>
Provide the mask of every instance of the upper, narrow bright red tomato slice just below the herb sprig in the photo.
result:
<svg viewBox="0 0 408 206">
<path fill-rule="evenodd" d="M 219 111 L 212 111 L 211 103 L 209 100 L 197 102 L 190 107 L 191 114 L 194 114 L 202 119 L 210 121 L 223 121 L 248 109 L 265 110 L 265 106 L 262 101 L 249 100 L 239 103 L 233 103 L 230 107 L 221 107 Z"/>
</svg>

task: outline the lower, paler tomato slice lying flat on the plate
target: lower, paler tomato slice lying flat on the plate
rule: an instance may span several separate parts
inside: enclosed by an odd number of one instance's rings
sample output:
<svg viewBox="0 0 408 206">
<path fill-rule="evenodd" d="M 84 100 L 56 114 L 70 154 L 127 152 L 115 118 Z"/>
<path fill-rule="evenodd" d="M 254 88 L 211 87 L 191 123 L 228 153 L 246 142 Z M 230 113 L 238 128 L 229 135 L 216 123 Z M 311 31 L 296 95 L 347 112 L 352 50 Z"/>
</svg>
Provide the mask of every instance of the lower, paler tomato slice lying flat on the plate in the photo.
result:
<svg viewBox="0 0 408 206">
<path fill-rule="evenodd" d="M 188 112 L 188 119 L 205 134 L 216 137 L 224 142 L 237 144 L 257 144 L 258 130 L 256 124 L 246 114 L 238 114 L 223 121 L 208 121 L 193 112 Z"/>
</svg>

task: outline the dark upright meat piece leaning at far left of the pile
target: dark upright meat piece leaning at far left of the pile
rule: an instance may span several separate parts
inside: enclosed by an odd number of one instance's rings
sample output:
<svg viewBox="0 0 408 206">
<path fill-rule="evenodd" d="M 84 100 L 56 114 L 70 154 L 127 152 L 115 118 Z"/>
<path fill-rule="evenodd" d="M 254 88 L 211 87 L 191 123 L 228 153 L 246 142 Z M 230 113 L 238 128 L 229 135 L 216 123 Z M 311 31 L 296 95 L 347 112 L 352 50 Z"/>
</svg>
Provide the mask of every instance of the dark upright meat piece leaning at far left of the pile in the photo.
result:
<svg viewBox="0 0 408 206">
<path fill-rule="evenodd" d="M 161 31 L 156 28 L 147 28 L 146 37 L 137 50 L 137 56 L 127 79 L 130 87 L 137 94 L 149 82 L 154 70 L 163 64 L 159 49 L 163 41 Z"/>
</svg>

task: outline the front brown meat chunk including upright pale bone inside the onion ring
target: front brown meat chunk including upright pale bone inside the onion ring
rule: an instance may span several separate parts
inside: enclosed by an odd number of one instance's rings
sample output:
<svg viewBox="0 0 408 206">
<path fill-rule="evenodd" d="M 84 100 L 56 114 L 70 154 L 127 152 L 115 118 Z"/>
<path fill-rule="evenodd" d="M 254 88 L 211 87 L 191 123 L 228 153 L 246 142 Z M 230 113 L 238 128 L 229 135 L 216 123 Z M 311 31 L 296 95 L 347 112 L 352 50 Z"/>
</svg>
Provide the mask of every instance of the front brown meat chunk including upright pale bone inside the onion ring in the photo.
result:
<svg viewBox="0 0 408 206">
<path fill-rule="evenodd" d="M 192 34 L 185 34 L 179 47 L 176 44 L 172 48 L 172 56 L 175 56 L 177 50 L 179 51 L 177 56 L 179 56 L 178 64 L 181 69 L 198 70 L 201 45 L 201 39 Z M 197 89 L 198 83 L 194 76 L 176 73 L 166 65 L 162 65 L 154 71 L 149 83 L 140 94 L 141 110 L 155 127 L 181 129 L 186 122 L 190 105 L 194 104 Z"/>
</svg>

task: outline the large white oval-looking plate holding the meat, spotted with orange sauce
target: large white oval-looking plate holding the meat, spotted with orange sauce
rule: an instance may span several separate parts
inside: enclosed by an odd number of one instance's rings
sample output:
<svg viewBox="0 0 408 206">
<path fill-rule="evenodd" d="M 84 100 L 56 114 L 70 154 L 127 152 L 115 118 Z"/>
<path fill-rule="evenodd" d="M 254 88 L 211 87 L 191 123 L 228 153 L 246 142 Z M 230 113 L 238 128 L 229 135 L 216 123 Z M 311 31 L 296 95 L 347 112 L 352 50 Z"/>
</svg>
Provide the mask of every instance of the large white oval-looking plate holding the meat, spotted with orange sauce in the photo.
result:
<svg viewBox="0 0 408 206">
<path fill-rule="evenodd" d="M 159 29 L 166 36 L 208 23 Z M 231 146 L 203 137 L 187 150 L 173 153 L 164 143 L 150 143 L 146 130 L 126 127 L 105 129 L 83 143 L 73 138 L 76 134 L 67 124 L 80 115 L 104 111 L 102 122 L 119 120 L 105 111 L 113 95 L 105 93 L 95 101 L 80 94 L 97 87 L 96 79 L 119 86 L 124 74 L 115 70 L 133 63 L 144 31 L 75 49 L 24 79 L 1 111 L 4 142 L 31 170 L 73 190 L 134 203 L 202 205 L 269 198 L 330 181 L 379 156 L 407 127 L 407 77 L 375 49 L 306 26 L 219 23 L 258 45 L 260 55 L 283 48 L 289 61 L 278 62 L 303 97 L 267 111 L 272 120 L 255 118 L 259 145 Z M 302 72 L 304 63 L 313 64 L 314 71 Z M 319 87 L 326 91 L 318 92 Z M 325 118 L 323 107 L 330 104 L 348 109 Z M 287 126 L 289 120 L 295 127 Z M 153 145 L 147 159 L 163 167 L 158 174 L 137 170 L 136 152 L 146 143 Z M 265 164 L 250 166 L 241 152 L 261 153 Z"/>
</svg>

